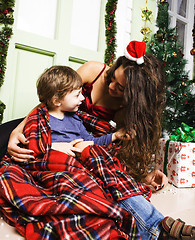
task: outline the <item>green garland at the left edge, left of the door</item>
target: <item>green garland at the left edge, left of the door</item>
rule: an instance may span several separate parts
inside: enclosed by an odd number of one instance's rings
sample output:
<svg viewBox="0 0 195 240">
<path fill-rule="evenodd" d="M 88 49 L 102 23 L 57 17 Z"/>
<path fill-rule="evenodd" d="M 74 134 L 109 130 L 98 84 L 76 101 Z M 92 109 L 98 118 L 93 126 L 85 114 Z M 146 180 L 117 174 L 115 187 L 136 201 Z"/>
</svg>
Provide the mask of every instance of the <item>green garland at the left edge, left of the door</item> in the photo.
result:
<svg viewBox="0 0 195 240">
<path fill-rule="evenodd" d="M 9 47 L 9 40 L 12 35 L 12 28 L 10 27 L 14 23 L 13 8 L 15 0 L 1 0 L 0 3 L 0 87 L 3 85 L 5 71 L 6 71 L 6 58 Z M 0 101 L 0 123 L 3 120 L 3 112 L 5 110 L 5 104 Z"/>
</svg>

